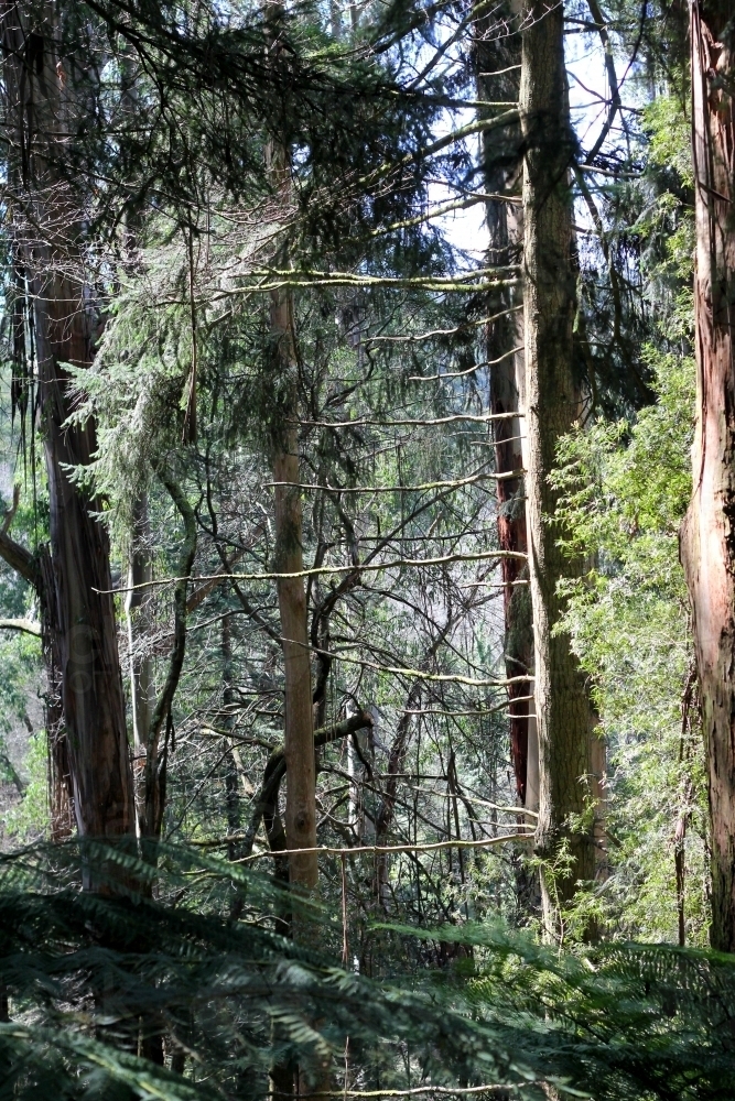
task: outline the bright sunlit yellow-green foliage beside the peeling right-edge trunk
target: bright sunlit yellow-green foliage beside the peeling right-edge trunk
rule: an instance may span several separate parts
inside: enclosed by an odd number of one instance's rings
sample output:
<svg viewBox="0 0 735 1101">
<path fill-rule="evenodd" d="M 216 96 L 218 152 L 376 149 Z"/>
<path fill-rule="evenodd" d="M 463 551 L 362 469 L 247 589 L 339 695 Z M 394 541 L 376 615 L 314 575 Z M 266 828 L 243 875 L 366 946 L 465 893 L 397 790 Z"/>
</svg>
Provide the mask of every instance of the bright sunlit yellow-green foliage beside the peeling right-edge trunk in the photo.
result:
<svg viewBox="0 0 735 1101">
<path fill-rule="evenodd" d="M 694 366 L 648 357 L 656 404 L 633 424 L 577 430 L 560 448 L 563 539 L 595 564 L 566 589 L 565 628 L 608 742 L 610 876 L 597 889 L 601 916 L 612 934 L 675 938 L 683 821 L 687 929 L 703 944 L 706 804 L 678 541 L 691 492 Z"/>
</svg>

